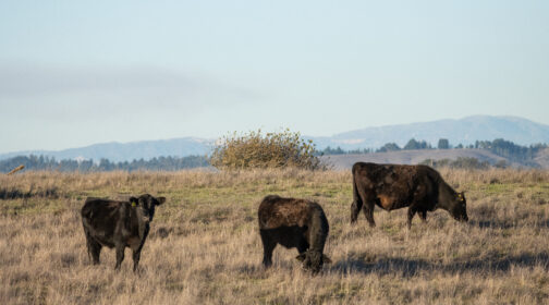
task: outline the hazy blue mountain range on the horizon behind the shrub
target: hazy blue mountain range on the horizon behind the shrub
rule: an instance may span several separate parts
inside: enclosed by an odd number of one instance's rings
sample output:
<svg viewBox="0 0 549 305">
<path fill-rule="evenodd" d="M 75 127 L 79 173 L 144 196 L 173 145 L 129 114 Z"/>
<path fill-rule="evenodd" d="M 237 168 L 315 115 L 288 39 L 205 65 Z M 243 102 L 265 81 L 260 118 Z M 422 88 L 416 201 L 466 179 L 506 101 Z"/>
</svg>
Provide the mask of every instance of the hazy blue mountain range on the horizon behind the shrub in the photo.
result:
<svg viewBox="0 0 549 305">
<path fill-rule="evenodd" d="M 341 147 L 345 150 L 357 148 L 379 148 L 386 143 L 404 146 L 411 138 L 426 141 L 437 146 L 439 138 L 448 138 L 450 144 L 468 145 L 475 141 L 504 138 L 520 145 L 549 143 L 549 125 L 539 124 L 517 117 L 474 115 L 461 120 L 440 120 L 424 123 L 387 125 L 350 131 L 333 136 L 304 136 L 315 142 L 318 149 L 327 146 Z M 132 143 L 103 143 L 81 148 L 58 151 L 32 150 L 1 154 L 1 159 L 21 155 L 44 155 L 56 159 L 94 159 L 107 158 L 111 161 L 131 161 L 151 159 L 160 156 L 184 157 L 206 155 L 213 147 L 215 139 L 183 137 Z"/>
</svg>

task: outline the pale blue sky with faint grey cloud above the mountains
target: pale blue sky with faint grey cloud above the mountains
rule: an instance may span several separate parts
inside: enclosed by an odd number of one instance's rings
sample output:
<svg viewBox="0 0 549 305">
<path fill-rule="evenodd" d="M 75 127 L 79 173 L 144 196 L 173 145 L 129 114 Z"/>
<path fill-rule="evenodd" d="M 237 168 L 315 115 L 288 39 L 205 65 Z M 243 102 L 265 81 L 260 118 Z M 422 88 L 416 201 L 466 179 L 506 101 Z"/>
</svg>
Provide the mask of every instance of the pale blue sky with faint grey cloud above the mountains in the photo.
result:
<svg viewBox="0 0 549 305">
<path fill-rule="evenodd" d="M 0 2 L 0 152 L 549 124 L 549 1 Z"/>
</svg>

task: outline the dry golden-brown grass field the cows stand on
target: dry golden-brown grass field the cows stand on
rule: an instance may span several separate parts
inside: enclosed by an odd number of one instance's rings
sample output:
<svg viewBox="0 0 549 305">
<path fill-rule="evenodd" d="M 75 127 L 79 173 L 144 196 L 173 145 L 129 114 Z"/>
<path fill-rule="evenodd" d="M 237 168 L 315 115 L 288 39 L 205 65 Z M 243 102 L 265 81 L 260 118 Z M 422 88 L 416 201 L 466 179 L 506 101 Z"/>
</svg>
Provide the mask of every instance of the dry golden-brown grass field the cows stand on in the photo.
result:
<svg viewBox="0 0 549 305">
<path fill-rule="evenodd" d="M 547 304 L 549 172 L 443 170 L 466 192 L 468 223 L 446 211 L 376 208 L 350 225 L 350 171 L 0 174 L 0 304 Z M 87 257 L 86 196 L 168 198 L 132 272 Z M 267 194 L 318 202 L 333 264 L 312 277 L 278 246 L 260 266 L 257 207 Z"/>
</svg>

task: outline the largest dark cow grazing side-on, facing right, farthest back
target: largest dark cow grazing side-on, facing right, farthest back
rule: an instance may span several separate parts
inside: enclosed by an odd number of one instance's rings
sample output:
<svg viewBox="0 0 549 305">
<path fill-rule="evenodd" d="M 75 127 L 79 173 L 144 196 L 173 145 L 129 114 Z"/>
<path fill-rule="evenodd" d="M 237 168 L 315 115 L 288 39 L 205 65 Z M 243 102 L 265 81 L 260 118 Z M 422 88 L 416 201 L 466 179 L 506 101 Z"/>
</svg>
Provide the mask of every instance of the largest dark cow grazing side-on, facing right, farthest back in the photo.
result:
<svg viewBox="0 0 549 305">
<path fill-rule="evenodd" d="M 444 209 L 460 221 L 467 221 L 464 193 L 456 193 L 440 174 L 427 166 L 376 164 L 356 162 L 353 166 L 353 205 L 351 223 L 361 208 L 370 227 L 375 227 L 374 205 L 388 211 L 410 207 L 407 227 L 419 212 L 426 220 L 427 211 Z"/>
</svg>

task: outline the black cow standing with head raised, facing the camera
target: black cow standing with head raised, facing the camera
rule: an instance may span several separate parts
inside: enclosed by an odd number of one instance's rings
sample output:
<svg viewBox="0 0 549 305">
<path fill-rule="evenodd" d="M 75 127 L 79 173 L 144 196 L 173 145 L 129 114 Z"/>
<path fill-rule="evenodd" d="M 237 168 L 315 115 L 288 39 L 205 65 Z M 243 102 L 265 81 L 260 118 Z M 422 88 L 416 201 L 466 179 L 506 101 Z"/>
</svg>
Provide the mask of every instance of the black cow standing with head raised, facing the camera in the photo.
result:
<svg viewBox="0 0 549 305">
<path fill-rule="evenodd" d="M 127 202 L 87 198 L 82 207 L 82 224 L 94 265 L 99 264 L 102 246 L 114 247 L 114 269 L 118 270 L 124 259 L 125 247 L 130 247 L 133 251 L 133 270 L 136 271 L 155 208 L 164 202 L 164 197 L 155 198 L 149 194 L 131 197 Z"/>
</svg>

